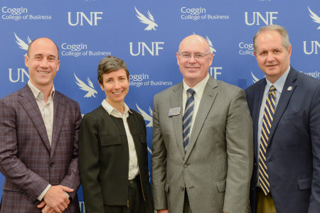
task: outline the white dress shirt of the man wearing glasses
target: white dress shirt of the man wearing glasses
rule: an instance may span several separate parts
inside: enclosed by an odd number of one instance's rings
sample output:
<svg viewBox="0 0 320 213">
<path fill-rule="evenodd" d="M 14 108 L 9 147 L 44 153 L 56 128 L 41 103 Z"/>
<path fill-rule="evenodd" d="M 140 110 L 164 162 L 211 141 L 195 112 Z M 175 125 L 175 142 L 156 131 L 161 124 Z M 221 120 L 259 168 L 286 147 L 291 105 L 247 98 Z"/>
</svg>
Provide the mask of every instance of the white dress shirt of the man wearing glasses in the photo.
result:
<svg viewBox="0 0 320 213">
<path fill-rule="evenodd" d="M 201 98 L 202 98 L 202 95 L 203 95 L 203 91 L 206 87 L 206 84 L 209 80 L 209 73 L 208 75 L 201 81 L 201 82 L 198 82 L 198 84 L 196 84 L 196 86 L 192 87 L 192 89 L 196 92 L 195 94 L 193 94 L 193 97 L 194 97 L 194 106 L 193 106 L 193 115 L 192 115 L 192 119 L 191 119 L 191 126 L 190 126 L 190 135 L 189 135 L 189 138 L 191 137 L 191 131 L 192 131 L 192 128 L 193 128 L 193 123 L 194 123 L 194 120 L 196 119 L 196 115 L 197 115 L 197 112 L 198 112 L 198 108 L 199 108 L 199 105 L 200 105 L 200 102 L 201 102 Z M 183 111 L 182 111 L 182 114 L 184 114 L 184 110 L 186 109 L 186 101 L 188 99 L 188 92 L 187 90 L 191 88 L 189 87 L 186 82 L 183 81 L 183 91 L 182 91 L 182 108 L 183 108 Z"/>
</svg>

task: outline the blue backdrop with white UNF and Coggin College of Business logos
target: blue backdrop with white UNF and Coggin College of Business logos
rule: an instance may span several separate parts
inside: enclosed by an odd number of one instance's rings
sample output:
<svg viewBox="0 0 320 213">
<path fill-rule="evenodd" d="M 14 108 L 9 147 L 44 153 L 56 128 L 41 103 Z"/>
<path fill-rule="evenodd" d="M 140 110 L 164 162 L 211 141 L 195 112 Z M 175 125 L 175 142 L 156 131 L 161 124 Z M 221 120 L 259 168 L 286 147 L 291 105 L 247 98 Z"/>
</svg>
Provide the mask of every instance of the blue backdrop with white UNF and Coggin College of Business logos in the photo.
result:
<svg viewBox="0 0 320 213">
<path fill-rule="evenodd" d="M 188 35 L 208 40 L 213 77 L 245 89 L 264 77 L 252 52 L 253 35 L 262 26 L 278 24 L 289 33 L 291 65 L 320 78 L 317 0 L 1 0 L 0 6 L 0 98 L 28 82 L 23 57 L 35 38 L 48 37 L 58 45 L 55 89 L 79 102 L 82 114 L 105 99 L 97 82 L 98 63 L 117 56 L 127 62 L 131 81 L 125 102 L 144 115 L 150 153 L 153 97 L 181 82 L 176 52 Z M 78 195 L 85 212 L 81 187 Z"/>
</svg>

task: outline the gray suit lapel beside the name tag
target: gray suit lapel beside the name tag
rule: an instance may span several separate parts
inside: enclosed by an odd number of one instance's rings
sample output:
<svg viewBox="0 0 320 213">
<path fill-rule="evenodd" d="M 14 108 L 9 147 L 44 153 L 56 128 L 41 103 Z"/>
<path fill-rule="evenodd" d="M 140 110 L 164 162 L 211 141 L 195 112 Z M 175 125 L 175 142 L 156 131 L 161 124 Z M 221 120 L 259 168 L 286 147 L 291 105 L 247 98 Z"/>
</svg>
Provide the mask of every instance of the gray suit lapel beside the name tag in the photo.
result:
<svg viewBox="0 0 320 213">
<path fill-rule="evenodd" d="M 174 94 L 170 96 L 170 108 L 181 107 L 180 114 L 172 116 L 172 123 L 174 125 L 174 133 L 176 134 L 176 143 L 178 143 L 178 149 L 181 155 L 184 157 L 184 148 L 183 148 L 183 132 L 182 132 L 182 90 L 183 83 L 177 85 L 174 88 Z M 169 111 L 168 111 L 169 114 Z"/>
</svg>

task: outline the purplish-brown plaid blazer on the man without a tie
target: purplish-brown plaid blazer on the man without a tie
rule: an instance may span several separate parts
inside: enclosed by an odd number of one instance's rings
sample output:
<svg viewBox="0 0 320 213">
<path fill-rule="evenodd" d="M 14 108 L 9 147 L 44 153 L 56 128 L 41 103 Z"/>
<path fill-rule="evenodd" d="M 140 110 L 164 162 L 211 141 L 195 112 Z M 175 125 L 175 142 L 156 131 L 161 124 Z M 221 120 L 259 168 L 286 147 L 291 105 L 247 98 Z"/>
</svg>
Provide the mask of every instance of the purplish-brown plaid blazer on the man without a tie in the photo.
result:
<svg viewBox="0 0 320 213">
<path fill-rule="evenodd" d="M 79 104 L 55 91 L 52 146 L 28 84 L 0 99 L 0 172 L 5 176 L 0 212 L 41 212 L 47 185 L 74 189 L 65 212 L 80 212 L 77 191 Z"/>
</svg>

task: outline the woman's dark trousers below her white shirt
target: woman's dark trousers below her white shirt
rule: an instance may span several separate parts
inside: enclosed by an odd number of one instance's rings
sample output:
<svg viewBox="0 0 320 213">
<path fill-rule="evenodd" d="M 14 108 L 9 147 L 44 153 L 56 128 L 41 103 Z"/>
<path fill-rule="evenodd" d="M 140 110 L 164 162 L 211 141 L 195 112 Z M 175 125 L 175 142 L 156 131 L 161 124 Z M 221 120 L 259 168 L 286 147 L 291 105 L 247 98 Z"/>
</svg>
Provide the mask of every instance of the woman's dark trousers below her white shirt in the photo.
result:
<svg viewBox="0 0 320 213">
<path fill-rule="evenodd" d="M 128 186 L 128 205 L 126 207 L 105 205 L 105 213 L 145 213 L 140 175 L 128 180 Z"/>
</svg>

